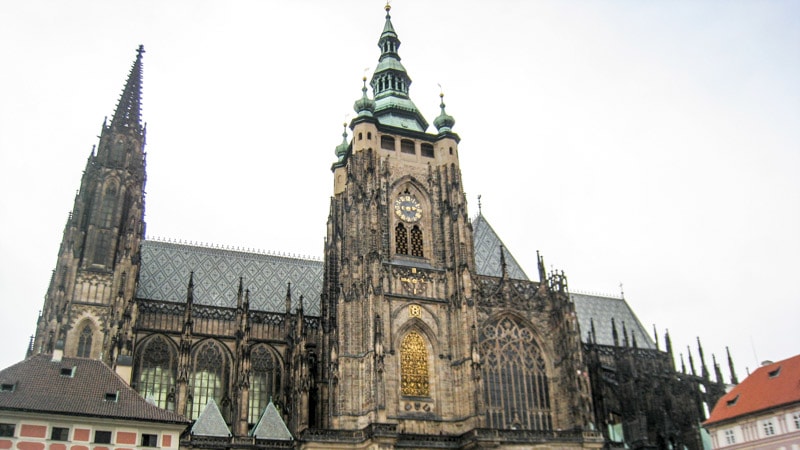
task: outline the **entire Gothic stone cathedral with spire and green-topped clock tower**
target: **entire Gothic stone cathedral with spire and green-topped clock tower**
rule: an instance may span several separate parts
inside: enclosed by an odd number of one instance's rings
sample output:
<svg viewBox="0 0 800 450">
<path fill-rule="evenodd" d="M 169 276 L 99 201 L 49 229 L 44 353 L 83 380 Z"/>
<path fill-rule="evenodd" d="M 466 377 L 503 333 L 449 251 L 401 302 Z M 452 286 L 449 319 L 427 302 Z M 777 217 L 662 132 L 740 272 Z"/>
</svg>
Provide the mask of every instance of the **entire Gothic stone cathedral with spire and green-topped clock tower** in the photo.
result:
<svg viewBox="0 0 800 450">
<path fill-rule="evenodd" d="M 571 293 L 542 256 L 528 278 L 469 215 L 455 119 L 442 97 L 429 131 L 385 9 L 319 193 L 321 261 L 146 237 L 140 47 L 29 354 L 104 361 L 194 421 L 182 448 L 703 448 L 718 363 L 699 347 L 699 370 L 676 368 L 668 335 L 622 298 Z"/>
</svg>

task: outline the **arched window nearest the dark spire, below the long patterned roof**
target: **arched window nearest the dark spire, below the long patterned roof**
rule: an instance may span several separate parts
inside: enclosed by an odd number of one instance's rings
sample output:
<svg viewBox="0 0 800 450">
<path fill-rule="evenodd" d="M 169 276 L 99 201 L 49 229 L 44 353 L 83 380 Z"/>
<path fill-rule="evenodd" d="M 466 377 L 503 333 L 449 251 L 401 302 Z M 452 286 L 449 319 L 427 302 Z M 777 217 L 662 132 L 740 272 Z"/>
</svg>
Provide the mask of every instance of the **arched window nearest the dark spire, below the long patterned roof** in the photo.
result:
<svg viewBox="0 0 800 450">
<path fill-rule="evenodd" d="M 139 353 L 139 382 L 136 389 L 144 398 L 152 398 L 160 408 L 174 410 L 177 352 L 166 338 L 155 336 Z"/>
</svg>

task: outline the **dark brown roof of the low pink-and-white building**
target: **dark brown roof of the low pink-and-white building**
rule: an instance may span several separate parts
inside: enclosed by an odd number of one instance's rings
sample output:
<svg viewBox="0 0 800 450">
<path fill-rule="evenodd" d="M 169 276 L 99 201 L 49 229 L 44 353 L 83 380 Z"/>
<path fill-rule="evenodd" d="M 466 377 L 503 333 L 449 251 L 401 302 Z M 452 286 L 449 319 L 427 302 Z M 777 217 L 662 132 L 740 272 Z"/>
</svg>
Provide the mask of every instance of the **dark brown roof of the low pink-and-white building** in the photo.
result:
<svg viewBox="0 0 800 450">
<path fill-rule="evenodd" d="M 62 369 L 72 375 L 62 375 Z M 189 423 L 183 416 L 148 403 L 97 360 L 65 357 L 54 362 L 50 355 L 36 355 L 0 371 L 0 384 L 0 410 L 4 411 Z M 116 401 L 109 401 L 107 393 L 119 394 Z"/>
</svg>

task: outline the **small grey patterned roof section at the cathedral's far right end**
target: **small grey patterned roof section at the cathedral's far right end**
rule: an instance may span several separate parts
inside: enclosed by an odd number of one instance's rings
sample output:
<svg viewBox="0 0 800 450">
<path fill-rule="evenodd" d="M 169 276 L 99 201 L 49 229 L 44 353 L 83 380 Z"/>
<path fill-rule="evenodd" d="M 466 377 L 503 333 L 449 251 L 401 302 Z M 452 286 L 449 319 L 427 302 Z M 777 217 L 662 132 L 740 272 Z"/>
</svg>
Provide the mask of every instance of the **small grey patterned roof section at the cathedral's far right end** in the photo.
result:
<svg viewBox="0 0 800 450">
<path fill-rule="evenodd" d="M 631 336 L 630 339 L 633 339 L 633 335 L 636 336 L 636 345 L 639 348 L 656 348 L 650 335 L 647 334 L 647 331 L 645 331 L 625 299 L 589 294 L 570 294 L 570 298 L 575 302 L 575 313 L 578 315 L 581 340 L 583 342 L 587 341 L 588 333 L 592 329 L 591 322 L 594 321 L 597 343 L 614 345 L 611 331 L 611 319 L 613 318 L 617 326 L 620 345 L 624 341 L 622 325 L 625 324 L 625 329 L 628 331 L 628 335 Z M 633 344 L 631 343 L 631 345 Z"/>
</svg>

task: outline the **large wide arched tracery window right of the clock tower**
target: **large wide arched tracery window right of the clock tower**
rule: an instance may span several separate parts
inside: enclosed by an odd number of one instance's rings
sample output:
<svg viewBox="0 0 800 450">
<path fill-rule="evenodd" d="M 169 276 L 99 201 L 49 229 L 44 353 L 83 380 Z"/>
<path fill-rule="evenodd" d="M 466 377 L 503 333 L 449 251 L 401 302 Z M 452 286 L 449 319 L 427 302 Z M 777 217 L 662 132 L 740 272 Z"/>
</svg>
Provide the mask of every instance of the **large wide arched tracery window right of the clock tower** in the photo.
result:
<svg viewBox="0 0 800 450">
<path fill-rule="evenodd" d="M 547 369 L 533 332 L 506 317 L 480 334 L 487 426 L 552 430 Z"/>
</svg>

